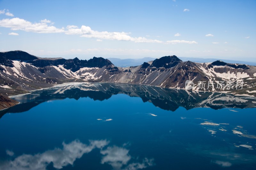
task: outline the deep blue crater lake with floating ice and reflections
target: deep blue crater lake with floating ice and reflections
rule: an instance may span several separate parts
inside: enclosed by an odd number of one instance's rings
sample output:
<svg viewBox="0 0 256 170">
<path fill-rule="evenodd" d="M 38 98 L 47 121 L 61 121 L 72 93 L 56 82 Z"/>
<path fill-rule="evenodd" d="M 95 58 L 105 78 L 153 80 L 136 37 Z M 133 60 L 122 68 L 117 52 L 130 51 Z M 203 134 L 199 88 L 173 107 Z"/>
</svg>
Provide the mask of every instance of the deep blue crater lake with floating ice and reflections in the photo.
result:
<svg viewBox="0 0 256 170">
<path fill-rule="evenodd" d="M 102 83 L 14 99 L 0 119 L 0 169 L 256 167 L 253 98 Z"/>
</svg>

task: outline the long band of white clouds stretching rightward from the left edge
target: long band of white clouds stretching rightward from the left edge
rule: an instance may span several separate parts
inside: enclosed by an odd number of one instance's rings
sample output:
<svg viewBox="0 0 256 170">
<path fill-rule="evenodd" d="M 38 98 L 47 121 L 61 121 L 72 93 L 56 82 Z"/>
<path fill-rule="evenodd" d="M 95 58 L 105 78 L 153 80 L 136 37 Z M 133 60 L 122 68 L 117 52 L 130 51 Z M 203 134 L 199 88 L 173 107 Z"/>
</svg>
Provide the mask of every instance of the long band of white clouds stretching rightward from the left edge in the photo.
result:
<svg viewBox="0 0 256 170">
<path fill-rule="evenodd" d="M 92 30 L 89 26 L 81 26 L 78 28 L 74 25 L 68 25 L 65 30 L 64 27 L 56 28 L 48 24 L 53 24 L 50 20 L 43 19 L 39 23 L 31 23 L 25 19 L 21 18 L 7 18 L 0 20 L 0 27 L 11 28 L 11 30 L 22 30 L 26 32 L 34 33 L 65 33 L 68 35 L 80 35 L 81 37 L 86 38 L 96 38 L 98 40 L 117 40 L 117 41 L 134 41 L 138 43 L 188 43 L 195 44 L 196 41 L 184 41 L 184 40 L 173 40 L 173 41 L 160 41 L 154 39 L 148 39 L 145 37 L 131 37 L 131 33 L 125 32 L 108 32 L 108 31 L 95 31 Z M 175 34 L 176 36 L 180 35 L 179 33 Z M 160 36 L 159 36 L 160 37 Z M 97 41 L 97 40 L 96 40 Z"/>
</svg>

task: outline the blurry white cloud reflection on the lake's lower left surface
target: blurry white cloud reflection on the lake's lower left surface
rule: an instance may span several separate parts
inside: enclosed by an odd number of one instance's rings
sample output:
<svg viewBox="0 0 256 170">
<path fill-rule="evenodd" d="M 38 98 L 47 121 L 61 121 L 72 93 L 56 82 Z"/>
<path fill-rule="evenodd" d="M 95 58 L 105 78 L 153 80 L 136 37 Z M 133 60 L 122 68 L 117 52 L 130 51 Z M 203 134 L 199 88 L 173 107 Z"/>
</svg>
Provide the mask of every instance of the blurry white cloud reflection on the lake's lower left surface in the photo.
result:
<svg viewBox="0 0 256 170">
<path fill-rule="evenodd" d="M 0 169 L 45 170 L 51 162 L 54 168 L 61 169 L 67 165 L 73 165 L 76 159 L 80 159 L 85 153 L 89 153 L 95 148 L 100 149 L 100 153 L 104 155 L 101 159 L 101 164 L 107 163 L 114 169 L 137 170 L 153 165 L 153 159 L 147 158 L 143 159 L 141 163 L 128 164 L 132 159 L 129 155 L 129 150 L 118 146 L 108 146 L 104 149 L 109 144 L 109 141 L 106 139 L 90 140 L 89 142 L 86 145 L 79 140 L 74 140 L 69 144 L 63 142 L 63 149 L 55 148 L 35 155 L 22 154 L 13 160 L 7 160 L 1 163 Z"/>
</svg>

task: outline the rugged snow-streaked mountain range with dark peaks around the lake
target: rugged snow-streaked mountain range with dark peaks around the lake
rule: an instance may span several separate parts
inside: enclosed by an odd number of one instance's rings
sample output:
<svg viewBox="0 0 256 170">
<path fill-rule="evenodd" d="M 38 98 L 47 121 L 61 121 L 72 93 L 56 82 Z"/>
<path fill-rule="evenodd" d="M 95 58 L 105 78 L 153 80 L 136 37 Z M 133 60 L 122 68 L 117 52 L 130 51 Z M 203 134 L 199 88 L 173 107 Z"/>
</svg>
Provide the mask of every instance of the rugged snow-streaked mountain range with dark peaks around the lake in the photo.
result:
<svg viewBox="0 0 256 170">
<path fill-rule="evenodd" d="M 41 58 L 23 51 L 0 53 L 0 93 L 15 95 L 67 82 L 152 85 L 256 96 L 256 66 L 223 61 L 183 62 L 164 56 L 138 66 L 116 67 L 108 59 Z"/>
</svg>

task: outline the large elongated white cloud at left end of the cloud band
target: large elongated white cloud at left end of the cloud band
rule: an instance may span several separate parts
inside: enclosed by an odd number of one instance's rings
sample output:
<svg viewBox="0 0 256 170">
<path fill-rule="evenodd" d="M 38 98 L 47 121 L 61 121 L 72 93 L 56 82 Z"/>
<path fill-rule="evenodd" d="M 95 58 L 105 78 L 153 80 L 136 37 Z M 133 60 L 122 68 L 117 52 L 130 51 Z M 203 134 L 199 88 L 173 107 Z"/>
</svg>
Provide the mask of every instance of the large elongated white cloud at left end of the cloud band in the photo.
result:
<svg viewBox="0 0 256 170">
<path fill-rule="evenodd" d="M 12 18 L 0 20 L 0 27 L 11 28 L 11 30 L 23 30 L 26 32 L 35 33 L 63 33 L 64 28 L 56 28 L 55 26 L 48 26 L 46 22 L 32 24 L 25 19 Z"/>
</svg>

